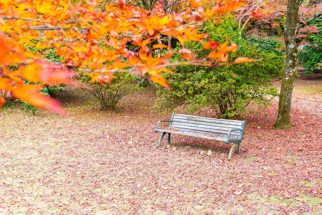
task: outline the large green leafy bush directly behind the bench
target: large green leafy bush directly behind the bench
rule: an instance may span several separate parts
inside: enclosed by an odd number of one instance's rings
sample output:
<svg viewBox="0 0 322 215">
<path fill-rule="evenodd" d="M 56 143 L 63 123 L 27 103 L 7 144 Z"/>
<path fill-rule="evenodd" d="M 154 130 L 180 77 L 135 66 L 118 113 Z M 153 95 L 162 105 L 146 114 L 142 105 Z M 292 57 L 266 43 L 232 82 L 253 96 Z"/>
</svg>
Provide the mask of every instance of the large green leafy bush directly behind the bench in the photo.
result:
<svg viewBox="0 0 322 215">
<path fill-rule="evenodd" d="M 228 24 L 228 25 L 227 25 Z M 229 21 L 218 25 L 219 29 L 231 31 L 228 38 L 237 37 L 238 32 L 232 30 Z M 208 31 L 208 26 L 203 26 Z M 209 29 L 214 26 L 210 25 Z M 216 27 L 215 27 L 216 28 Z M 228 29 L 228 30 L 227 30 Z M 230 29 L 230 30 L 229 30 Z M 212 31 L 212 30 L 211 30 Z M 220 37 L 217 34 L 209 37 Z M 218 38 L 219 39 L 219 38 Z M 241 41 L 243 42 L 243 41 Z M 195 43 L 187 44 L 194 50 Z M 203 56 L 204 50 L 195 50 L 196 56 Z M 272 85 L 272 78 L 281 75 L 283 57 L 273 52 L 265 52 L 248 43 L 240 43 L 240 48 L 230 55 L 231 59 L 240 56 L 259 59 L 256 62 L 244 64 L 226 64 L 225 66 L 201 67 L 181 65 L 175 68 L 176 75 L 166 75 L 171 91 L 158 88 L 160 106 L 174 108 L 179 103 L 188 104 L 188 112 L 193 112 L 204 106 L 210 106 L 220 117 L 231 118 L 244 112 L 246 106 L 255 101 L 264 108 L 274 96 L 277 89 Z M 180 55 L 174 54 L 174 58 Z M 174 59 L 176 60 L 176 59 Z"/>
</svg>

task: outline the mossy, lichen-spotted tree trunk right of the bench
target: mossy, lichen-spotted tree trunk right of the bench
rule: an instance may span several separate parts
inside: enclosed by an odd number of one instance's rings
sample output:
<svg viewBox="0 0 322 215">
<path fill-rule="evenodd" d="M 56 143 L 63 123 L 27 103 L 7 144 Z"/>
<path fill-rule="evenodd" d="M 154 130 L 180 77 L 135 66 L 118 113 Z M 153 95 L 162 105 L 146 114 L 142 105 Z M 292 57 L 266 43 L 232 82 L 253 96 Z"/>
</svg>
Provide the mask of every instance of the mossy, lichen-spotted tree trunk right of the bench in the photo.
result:
<svg viewBox="0 0 322 215">
<path fill-rule="evenodd" d="M 298 23 L 299 0 L 288 0 L 288 11 L 284 28 L 284 40 L 287 51 L 284 75 L 282 78 L 281 92 L 279 94 L 278 117 L 275 128 L 290 129 L 291 126 L 291 101 L 294 81 L 297 74 L 296 66 L 298 50 L 295 40 L 296 26 Z"/>
</svg>

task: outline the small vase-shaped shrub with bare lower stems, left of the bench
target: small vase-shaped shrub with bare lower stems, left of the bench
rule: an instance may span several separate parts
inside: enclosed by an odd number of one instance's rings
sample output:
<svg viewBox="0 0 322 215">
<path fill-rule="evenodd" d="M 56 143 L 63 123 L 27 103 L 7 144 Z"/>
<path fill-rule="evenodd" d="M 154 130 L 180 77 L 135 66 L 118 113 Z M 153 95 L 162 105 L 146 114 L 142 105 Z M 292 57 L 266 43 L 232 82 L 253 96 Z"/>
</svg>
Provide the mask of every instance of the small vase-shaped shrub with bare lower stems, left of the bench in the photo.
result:
<svg viewBox="0 0 322 215">
<path fill-rule="evenodd" d="M 116 74 L 110 84 L 91 83 L 91 78 L 84 73 L 80 73 L 79 78 L 90 84 L 90 87 L 85 87 L 85 89 L 98 100 L 101 110 L 115 110 L 121 98 L 140 89 L 137 77 L 128 73 Z"/>
</svg>

